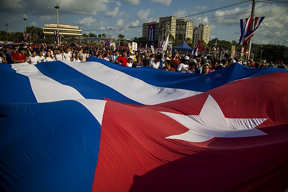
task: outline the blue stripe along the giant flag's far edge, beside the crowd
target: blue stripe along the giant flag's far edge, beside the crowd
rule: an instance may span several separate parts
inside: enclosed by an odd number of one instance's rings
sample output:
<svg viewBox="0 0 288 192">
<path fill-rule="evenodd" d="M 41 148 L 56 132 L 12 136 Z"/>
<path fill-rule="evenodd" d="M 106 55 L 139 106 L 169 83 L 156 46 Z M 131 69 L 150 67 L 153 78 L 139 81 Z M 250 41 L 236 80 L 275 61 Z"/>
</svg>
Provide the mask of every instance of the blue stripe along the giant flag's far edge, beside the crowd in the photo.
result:
<svg viewBox="0 0 288 192">
<path fill-rule="evenodd" d="M 197 92 L 206 92 L 226 83 L 239 79 L 249 78 L 252 76 L 255 77 L 276 72 L 287 72 L 287 70 L 273 67 L 265 69 L 254 69 L 251 67 L 245 67 L 240 64 L 233 64 L 231 66 L 217 70 L 213 73 L 207 75 L 200 75 L 188 73 L 173 73 L 169 71 L 153 69 L 151 67 L 130 68 L 114 64 L 97 57 L 90 57 L 88 61 L 100 62 L 112 69 L 119 70 L 132 77 L 141 79 L 150 85 Z"/>
</svg>

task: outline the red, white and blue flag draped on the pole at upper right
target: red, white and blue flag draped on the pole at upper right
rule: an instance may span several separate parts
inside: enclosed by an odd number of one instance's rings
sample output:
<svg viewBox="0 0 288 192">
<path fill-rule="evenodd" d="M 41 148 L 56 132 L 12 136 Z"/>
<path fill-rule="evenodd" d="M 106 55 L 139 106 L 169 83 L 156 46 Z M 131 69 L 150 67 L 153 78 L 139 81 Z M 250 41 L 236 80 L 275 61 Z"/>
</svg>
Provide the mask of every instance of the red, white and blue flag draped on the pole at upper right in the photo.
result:
<svg viewBox="0 0 288 192">
<path fill-rule="evenodd" d="M 241 36 L 239 39 L 239 45 L 247 45 L 248 40 L 254 36 L 255 31 L 258 29 L 264 18 L 265 17 L 255 17 L 254 28 L 252 31 L 251 31 L 252 17 L 249 16 L 246 19 L 240 19 Z"/>
</svg>

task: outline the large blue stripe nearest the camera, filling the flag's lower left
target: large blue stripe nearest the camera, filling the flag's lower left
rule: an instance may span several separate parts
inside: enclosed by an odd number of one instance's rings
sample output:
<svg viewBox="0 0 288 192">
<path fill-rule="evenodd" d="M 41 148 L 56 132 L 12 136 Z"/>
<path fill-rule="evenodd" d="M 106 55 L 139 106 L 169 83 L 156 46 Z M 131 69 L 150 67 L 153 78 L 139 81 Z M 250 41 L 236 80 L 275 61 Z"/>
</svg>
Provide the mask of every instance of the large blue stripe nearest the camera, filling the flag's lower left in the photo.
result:
<svg viewBox="0 0 288 192">
<path fill-rule="evenodd" d="M 82 104 L 66 100 L 0 108 L 5 114 L 0 121 L 2 191 L 91 192 L 101 126 Z"/>
</svg>

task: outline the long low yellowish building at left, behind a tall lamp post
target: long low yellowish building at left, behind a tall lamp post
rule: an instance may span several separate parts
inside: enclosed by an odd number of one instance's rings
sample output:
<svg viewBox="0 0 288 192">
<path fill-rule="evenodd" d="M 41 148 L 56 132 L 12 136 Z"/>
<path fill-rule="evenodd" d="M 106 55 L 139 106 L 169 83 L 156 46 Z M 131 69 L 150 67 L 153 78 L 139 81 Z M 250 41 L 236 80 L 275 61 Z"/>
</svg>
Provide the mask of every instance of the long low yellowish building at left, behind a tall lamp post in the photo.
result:
<svg viewBox="0 0 288 192">
<path fill-rule="evenodd" d="M 54 31 L 57 30 L 57 24 L 44 24 L 43 33 L 44 39 L 54 38 Z M 82 36 L 82 30 L 78 26 L 59 24 L 59 34 L 62 35 L 62 40 L 71 39 L 72 37 Z"/>
</svg>

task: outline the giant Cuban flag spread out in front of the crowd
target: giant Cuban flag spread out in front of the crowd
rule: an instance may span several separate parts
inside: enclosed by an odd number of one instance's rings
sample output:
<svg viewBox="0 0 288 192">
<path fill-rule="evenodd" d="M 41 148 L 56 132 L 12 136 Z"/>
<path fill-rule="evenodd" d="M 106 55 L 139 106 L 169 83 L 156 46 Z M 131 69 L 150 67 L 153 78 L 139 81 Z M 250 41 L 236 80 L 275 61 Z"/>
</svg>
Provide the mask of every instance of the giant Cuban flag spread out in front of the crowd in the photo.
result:
<svg viewBox="0 0 288 192">
<path fill-rule="evenodd" d="M 288 73 L 0 63 L 0 191 L 285 191 Z"/>
</svg>

